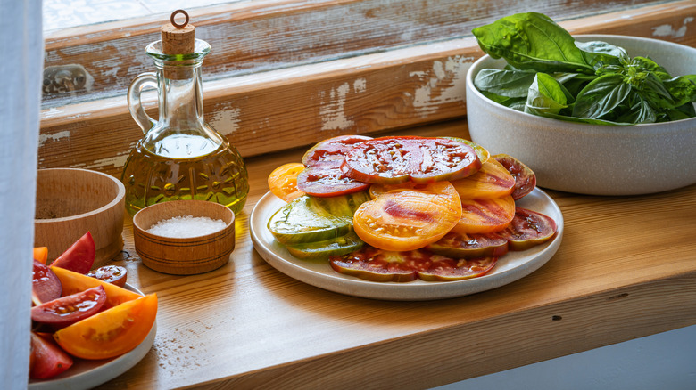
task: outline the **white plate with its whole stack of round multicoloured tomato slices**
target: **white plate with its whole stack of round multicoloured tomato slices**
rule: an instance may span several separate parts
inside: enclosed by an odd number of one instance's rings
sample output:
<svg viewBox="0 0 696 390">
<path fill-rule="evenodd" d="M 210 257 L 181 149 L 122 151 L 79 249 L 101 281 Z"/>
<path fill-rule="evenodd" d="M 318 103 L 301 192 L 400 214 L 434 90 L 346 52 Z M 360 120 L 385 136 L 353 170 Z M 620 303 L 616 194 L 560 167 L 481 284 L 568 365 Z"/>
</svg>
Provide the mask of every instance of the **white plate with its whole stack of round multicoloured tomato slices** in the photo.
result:
<svg viewBox="0 0 696 390">
<path fill-rule="evenodd" d="M 269 187 L 250 217 L 256 251 L 296 280 L 355 297 L 498 288 L 546 264 L 563 236 L 531 170 L 459 138 L 331 138 L 302 165 L 278 167 Z"/>
</svg>

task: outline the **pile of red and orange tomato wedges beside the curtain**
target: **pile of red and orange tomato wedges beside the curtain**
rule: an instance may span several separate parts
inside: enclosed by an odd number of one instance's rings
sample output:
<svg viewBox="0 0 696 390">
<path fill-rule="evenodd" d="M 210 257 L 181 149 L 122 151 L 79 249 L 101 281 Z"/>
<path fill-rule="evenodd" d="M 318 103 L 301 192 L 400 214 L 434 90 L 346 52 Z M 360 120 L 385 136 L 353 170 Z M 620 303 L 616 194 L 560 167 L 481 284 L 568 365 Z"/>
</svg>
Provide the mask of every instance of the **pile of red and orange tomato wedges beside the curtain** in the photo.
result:
<svg viewBox="0 0 696 390">
<path fill-rule="evenodd" d="M 123 288 L 126 270 L 95 272 L 95 243 L 87 232 L 46 265 L 46 248 L 34 250 L 29 375 L 52 378 L 73 358 L 99 360 L 128 353 L 145 340 L 157 315 L 157 296 Z"/>
</svg>

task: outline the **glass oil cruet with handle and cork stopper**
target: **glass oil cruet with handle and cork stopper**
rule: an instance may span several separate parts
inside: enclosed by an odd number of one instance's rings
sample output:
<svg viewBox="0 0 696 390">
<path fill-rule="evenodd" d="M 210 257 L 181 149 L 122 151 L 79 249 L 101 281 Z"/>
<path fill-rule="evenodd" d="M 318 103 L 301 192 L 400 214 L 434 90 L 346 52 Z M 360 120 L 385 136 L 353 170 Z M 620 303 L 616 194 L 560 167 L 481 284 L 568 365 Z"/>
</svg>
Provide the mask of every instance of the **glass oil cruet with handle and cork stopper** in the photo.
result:
<svg viewBox="0 0 696 390">
<path fill-rule="evenodd" d="M 175 21 L 178 13 L 186 16 L 184 23 Z M 135 215 L 154 203 L 197 199 L 238 214 L 249 192 L 244 160 L 226 137 L 203 121 L 201 65 L 211 46 L 195 39 L 185 11 L 173 12 L 170 21 L 161 28 L 162 40 L 145 48 L 157 71 L 138 75 L 128 88 L 128 109 L 145 137 L 123 167 L 126 209 Z M 159 96 L 157 121 L 140 99 L 145 88 L 153 87 Z"/>
</svg>

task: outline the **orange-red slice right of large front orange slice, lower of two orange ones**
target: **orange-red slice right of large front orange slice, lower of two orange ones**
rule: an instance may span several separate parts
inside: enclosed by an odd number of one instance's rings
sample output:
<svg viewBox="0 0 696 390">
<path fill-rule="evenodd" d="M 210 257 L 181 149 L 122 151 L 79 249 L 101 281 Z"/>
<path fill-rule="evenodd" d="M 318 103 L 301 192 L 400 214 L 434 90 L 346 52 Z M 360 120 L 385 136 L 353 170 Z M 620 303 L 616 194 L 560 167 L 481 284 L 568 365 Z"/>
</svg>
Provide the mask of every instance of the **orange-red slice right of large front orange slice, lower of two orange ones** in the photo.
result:
<svg viewBox="0 0 696 390">
<path fill-rule="evenodd" d="M 515 216 L 515 200 L 509 195 L 503 198 L 461 199 L 461 218 L 452 232 L 499 232 L 510 224 Z"/>
</svg>

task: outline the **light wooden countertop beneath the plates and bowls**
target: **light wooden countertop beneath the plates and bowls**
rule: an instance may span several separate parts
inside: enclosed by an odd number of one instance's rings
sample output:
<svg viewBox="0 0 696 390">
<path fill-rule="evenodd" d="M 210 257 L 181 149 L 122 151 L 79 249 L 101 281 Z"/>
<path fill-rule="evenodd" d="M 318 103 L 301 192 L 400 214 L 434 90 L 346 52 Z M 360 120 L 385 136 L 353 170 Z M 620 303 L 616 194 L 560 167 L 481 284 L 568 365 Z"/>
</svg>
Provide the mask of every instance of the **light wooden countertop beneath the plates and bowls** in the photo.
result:
<svg viewBox="0 0 696 390">
<path fill-rule="evenodd" d="M 396 134 L 468 136 L 463 121 Z M 216 271 L 148 269 L 126 222 L 114 264 L 157 293 L 157 337 L 103 388 L 427 388 L 696 323 L 696 185 L 617 198 L 546 191 L 565 235 L 540 270 L 467 297 L 389 302 L 304 284 L 254 250 L 248 220 L 266 178 L 303 152 L 246 160 L 252 191 Z"/>
</svg>

